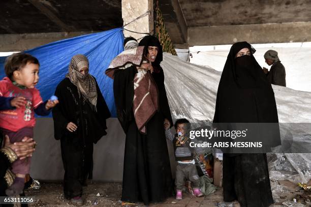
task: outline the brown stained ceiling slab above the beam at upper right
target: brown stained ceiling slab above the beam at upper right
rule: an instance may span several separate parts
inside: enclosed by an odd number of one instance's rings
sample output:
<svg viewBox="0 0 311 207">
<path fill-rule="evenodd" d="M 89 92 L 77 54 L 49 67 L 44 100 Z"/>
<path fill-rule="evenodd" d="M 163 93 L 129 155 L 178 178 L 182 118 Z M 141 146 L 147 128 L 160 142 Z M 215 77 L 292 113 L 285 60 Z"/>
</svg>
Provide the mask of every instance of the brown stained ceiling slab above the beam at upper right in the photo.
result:
<svg viewBox="0 0 311 207">
<path fill-rule="evenodd" d="M 179 0 L 189 27 L 285 23 L 311 20 L 311 1 Z"/>
</svg>

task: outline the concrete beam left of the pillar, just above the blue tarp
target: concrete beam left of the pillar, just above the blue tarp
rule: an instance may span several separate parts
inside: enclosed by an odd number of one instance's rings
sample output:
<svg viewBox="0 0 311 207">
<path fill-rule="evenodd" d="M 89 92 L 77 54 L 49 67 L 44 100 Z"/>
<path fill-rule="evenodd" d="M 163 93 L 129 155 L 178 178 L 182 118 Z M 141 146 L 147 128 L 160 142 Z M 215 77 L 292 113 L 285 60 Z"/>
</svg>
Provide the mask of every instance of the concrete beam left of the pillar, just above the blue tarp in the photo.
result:
<svg viewBox="0 0 311 207">
<path fill-rule="evenodd" d="M 81 32 L 1 34 L 0 52 L 24 51 L 58 40 L 73 38 L 88 33 L 92 32 L 81 31 Z"/>
</svg>

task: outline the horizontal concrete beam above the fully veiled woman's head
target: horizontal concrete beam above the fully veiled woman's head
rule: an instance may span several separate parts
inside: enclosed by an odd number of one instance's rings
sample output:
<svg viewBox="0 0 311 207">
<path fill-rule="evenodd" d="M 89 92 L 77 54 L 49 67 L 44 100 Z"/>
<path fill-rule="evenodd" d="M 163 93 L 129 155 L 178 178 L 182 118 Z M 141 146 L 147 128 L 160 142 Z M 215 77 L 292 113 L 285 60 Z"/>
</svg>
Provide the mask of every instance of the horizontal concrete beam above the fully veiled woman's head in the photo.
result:
<svg viewBox="0 0 311 207">
<path fill-rule="evenodd" d="M 230 45 L 241 41 L 253 44 L 310 42 L 311 22 L 188 28 L 190 46 Z"/>
</svg>

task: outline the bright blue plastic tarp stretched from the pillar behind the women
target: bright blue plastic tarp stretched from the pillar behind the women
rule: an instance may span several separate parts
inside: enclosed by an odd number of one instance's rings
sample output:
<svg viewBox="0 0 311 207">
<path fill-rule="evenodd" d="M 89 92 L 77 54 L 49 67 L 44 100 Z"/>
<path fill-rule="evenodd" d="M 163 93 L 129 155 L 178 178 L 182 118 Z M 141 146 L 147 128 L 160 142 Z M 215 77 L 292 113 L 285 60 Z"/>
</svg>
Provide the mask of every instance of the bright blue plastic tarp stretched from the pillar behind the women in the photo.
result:
<svg viewBox="0 0 311 207">
<path fill-rule="evenodd" d="M 40 62 L 39 83 L 43 100 L 54 94 L 58 83 L 65 78 L 72 56 L 84 54 L 89 60 L 89 73 L 94 76 L 106 100 L 112 117 L 116 117 L 113 80 L 105 75 L 111 60 L 123 51 L 122 28 L 86 34 L 61 40 L 25 51 Z M 0 57 L 0 78 L 5 77 L 4 62 Z M 51 115 L 50 115 L 51 116 Z"/>
</svg>

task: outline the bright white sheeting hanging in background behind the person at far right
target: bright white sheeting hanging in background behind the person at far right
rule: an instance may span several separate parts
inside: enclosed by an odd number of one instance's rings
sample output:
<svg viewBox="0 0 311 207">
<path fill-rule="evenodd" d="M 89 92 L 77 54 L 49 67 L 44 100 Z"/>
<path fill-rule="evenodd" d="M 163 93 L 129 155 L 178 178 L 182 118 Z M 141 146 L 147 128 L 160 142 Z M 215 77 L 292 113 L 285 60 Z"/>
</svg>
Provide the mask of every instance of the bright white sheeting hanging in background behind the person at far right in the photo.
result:
<svg viewBox="0 0 311 207">
<path fill-rule="evenodd" d="M 223 71 L 231 45 L 208 48 L 195 46 L 190 48 L 191 63 L 209 66 L 217 71 Z M 286 85 L 295 90 L 311 91 L 311 42 L 281 43 L 281 44 L 253 44 L 256 49 L 256 60 L 262 67 L 270 68 L 265 63 L 264 54 L 267 50 L 275 50 L 286 70 Z M 204 51 L 210 50 L 210 51 Z"/>
</svg>

